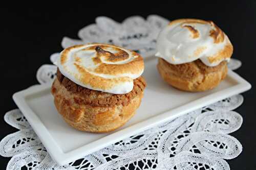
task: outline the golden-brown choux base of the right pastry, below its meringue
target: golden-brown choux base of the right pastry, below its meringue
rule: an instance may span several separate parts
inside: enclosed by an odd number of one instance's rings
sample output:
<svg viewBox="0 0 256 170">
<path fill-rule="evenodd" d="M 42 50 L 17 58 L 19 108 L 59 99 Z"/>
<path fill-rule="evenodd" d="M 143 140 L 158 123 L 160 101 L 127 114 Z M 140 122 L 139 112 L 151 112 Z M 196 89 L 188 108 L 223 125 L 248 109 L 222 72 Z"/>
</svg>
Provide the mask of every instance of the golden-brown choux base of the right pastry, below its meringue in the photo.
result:
<svg viewBox="0 0 256 170">
<path fill-rule="evenodd" d="M 170 64 L 159 58 L 157 69 L 165 82 L 184 91 L 205 91 L 215 88 L 227 75 L 226 62 L 208 67 L 200 60 L 185 64 Z"/>
</svg>

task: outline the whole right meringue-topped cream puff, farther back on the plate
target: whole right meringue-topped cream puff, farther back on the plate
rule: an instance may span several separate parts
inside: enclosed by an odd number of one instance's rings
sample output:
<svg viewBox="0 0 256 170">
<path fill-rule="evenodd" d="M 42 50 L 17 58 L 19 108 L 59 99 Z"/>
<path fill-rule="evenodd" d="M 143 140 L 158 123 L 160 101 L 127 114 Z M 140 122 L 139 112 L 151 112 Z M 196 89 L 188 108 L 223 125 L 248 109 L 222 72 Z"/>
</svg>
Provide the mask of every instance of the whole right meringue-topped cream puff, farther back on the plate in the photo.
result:
<svg viewBox="0 0 256 170">
<path fill-rule="evenodd" d="M 205 91 L 227 75 L 233 46 L 212 21 L 177 19 L 158 35 L 158 71 L 168 84 L 185 91 Z"/>
</svg>

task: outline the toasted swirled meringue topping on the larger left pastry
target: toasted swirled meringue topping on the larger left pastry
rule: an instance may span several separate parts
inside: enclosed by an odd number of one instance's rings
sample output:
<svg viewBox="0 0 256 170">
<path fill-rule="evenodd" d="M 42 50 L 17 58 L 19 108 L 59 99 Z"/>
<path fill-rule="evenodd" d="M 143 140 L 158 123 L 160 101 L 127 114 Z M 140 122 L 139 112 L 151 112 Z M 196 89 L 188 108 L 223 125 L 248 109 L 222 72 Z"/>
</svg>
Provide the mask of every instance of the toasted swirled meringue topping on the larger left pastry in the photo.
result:
<svg viewBox="0 0 256 170">
<path fill-rule="evenodd" d="M 56 65 L 62 75 L 76 84 L 113 94 L 132 91 L 133 80 L 144 71 L 139 54 L 109 44 L 68 47 L 60 53 Z"/>
</svg>

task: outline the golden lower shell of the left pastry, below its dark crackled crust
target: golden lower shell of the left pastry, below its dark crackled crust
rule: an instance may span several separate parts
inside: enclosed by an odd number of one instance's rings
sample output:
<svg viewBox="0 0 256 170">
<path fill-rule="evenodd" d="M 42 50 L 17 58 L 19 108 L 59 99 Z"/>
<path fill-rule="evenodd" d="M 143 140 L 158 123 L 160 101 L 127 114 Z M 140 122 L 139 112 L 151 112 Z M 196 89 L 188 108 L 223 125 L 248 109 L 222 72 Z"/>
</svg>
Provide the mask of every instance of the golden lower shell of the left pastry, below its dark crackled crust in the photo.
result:
<svg viewBox="0 0 256 170">
<path fill-rule="evenodd" d="M 58 79 L 52 85 L 54 104 L 63 119 L 80 131 L 104 133 L 124 125 L 140 106 L 143 92 L 133 98 L 127 105 L 91 106 L 78 104 L 74 99 L 78 94 L 68 91 Z"/>
</svg>

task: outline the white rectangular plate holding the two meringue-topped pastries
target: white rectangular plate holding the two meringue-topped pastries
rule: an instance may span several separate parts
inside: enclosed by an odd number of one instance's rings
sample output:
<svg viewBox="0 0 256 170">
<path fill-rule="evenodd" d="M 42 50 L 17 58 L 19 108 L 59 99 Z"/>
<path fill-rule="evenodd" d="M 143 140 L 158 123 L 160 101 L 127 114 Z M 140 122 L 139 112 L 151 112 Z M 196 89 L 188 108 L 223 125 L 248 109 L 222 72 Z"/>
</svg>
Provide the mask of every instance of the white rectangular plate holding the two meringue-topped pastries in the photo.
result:
<svg viewBox="0 0 256 170">
<path fill-rule="evenodd" d="M 59 164 L 67 164 L 125 137 L 251 88 L 247 81 L 228 70 L 227 78 L 213 90 L 180 91 L 163 82 L 156 64 L 156 58 L 145 59 L 143 76 L 147 87 L 140 108 L 128 123 L 111 133 L 81 132 L 67 125 L 55 109 L 50 84 L 19 91 L 13 99 L 51 157 Z"/>
</svg>

